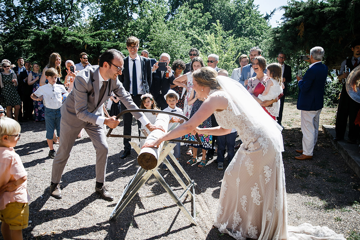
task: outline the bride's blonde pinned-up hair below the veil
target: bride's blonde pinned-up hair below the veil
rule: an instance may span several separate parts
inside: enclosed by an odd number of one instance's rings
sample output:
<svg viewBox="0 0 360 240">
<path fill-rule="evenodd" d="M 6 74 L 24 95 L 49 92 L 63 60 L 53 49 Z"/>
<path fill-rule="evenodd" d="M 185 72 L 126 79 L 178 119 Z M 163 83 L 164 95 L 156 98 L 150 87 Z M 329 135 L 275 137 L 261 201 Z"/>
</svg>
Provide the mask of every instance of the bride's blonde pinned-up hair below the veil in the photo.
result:
<svg viewBox="0 0 360 240">
<path fill-rule="evenodd" d="M 212 67 L 203 67 L 193 72 L 193 79 L 201 86 L 221 89 L 216 80 L 217 72 Z"/>
</svg>

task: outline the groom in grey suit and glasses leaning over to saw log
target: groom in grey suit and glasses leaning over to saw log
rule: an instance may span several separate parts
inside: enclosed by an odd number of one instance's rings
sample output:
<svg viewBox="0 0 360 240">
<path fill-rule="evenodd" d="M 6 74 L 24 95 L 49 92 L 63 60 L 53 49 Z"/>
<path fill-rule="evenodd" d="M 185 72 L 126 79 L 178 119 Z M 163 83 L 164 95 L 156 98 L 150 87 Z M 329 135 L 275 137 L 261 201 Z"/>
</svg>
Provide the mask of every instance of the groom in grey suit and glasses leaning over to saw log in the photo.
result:
<svg viewBox="0 0 360 240">
<path fill-rule="evenodd" d="M 50 194 L 56 199 L 62 198 L 59 182 L 70 156 L 70 151 L 77 135 L 84 128 L 96 150 L 96 186 L 95 191 L 104 199 L 113 200 L 112 193 L 104 186 L 108 144 L 105 139 L 103 124 L 115 128 L 120 120 L 115 116 L 103 117 L 102 105 L 114 92 L 127 108 L 138 108 L 131 99 L 129 92 L 117 79 L 122 74 L 124 55 L 116 50 L 105 51 L 94 65 L 80 71 L 74 81 L 73 90 L 61 107 L 60 145 L 54 158 L 51 173 Z M 134 113 L 150 131 L 161 129 L 152 125 L 143 113 Z"/>
</svg>

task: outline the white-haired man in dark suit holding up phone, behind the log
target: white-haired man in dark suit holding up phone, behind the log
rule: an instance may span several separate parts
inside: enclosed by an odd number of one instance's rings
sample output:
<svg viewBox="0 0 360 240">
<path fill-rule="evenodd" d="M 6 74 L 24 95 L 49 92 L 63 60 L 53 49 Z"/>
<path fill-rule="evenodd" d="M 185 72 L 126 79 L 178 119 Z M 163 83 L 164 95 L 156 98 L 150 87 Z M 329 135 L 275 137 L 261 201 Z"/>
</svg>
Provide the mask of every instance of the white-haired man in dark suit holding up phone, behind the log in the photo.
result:
<svg viewBox="0 0 360 240">
<path fill-rule="evenodd" d="M 161 110 L 164 110 L 168 107 L 164 96 L 167 94 L 167 91 L 170 90 L 170 84 L 174 85 L 174 71 L 172 71 L 170 63 L 170 55 L 167 53 L 162 53 L 160 55 L 160 62 L 165 62 L 167 71 L 169 71 L 169 77 L 166 78 L 166 71 L 159 71 L 158 63 L 155 63 L 152 68 L 153 80 L 150 86 L 150 93 L 153 95 L 156 103 L 160 106 Z"/>
</svg>

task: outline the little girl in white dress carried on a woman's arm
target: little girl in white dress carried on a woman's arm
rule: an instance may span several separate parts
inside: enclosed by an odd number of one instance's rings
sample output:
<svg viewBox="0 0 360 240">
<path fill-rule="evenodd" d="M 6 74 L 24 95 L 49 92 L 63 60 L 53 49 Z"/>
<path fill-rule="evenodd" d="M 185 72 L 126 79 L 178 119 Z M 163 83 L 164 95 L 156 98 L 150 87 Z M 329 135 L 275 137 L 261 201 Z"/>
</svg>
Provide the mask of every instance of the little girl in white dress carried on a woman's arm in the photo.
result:
<svg viewBox="0 0 360 240">
<path fill-rule="evenodd" d="M 259 94 L 257 97 L 261 101 L 273 100 L 283 92 L 284 84 L 282 78 L 282 67 L 279 63 L 271 63 L 267 66 L 266 75 L 270 78 L 266 82 L 266 87 L 262 94 Z M 265 107 L 265 109 L 273 117 L 279 117 L 280 110 L 280 101 L 273 103 L 270 107 Z"/>
</svg>

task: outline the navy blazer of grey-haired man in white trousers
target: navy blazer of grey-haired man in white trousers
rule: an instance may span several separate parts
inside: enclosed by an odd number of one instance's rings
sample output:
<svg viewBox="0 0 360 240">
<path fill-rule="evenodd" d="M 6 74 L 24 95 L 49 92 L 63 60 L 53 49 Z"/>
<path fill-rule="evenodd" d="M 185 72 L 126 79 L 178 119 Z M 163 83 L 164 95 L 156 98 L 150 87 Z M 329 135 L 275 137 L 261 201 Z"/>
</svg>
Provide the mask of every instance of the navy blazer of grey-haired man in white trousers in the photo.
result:
<svg viewBox="0 0 360 240">
<path fill-rule="evenodd" d="M 299 95 L 297 109 L 317 111 L 324 107 L 324 88 L 328 76 L 328 67 L 321 62 L 309 68 L 298 82 Z"/>
</svg>

